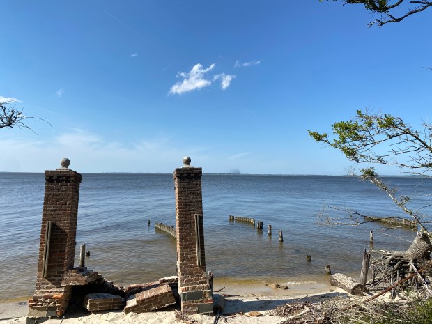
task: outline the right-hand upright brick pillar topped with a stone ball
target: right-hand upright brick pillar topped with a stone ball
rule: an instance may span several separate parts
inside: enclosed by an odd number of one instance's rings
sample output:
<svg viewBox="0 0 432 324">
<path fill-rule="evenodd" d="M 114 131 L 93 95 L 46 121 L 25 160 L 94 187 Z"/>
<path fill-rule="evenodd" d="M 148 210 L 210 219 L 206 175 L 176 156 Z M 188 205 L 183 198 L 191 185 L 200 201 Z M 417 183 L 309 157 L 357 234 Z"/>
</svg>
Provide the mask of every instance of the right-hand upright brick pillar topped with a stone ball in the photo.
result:
<svg viewBox="0 0 432 324">
<path fill-rule="evenodd" d="M 174 171 L 178 293 L 183 314 L 213 314 L 213 292 L 206 274 L 204 249 L 201 168 L 190 166 Z"/>
</svg>

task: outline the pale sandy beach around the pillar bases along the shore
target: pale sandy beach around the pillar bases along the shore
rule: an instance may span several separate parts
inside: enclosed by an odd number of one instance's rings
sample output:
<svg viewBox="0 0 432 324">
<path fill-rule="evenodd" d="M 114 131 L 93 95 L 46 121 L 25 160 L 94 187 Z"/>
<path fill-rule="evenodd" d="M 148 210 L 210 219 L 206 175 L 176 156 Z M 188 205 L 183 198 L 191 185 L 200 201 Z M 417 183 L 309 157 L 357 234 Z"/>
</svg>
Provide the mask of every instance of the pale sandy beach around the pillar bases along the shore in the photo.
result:
<svg viewBox="0 0 432 324">
<path fill-rule="evenodd" d="M 283 287 L 283 286 L 282 286 Z M 214 300 L 225 300 L 224 311 L 219 323 L 280 323 L 286 318 L 267 316 L 267 312 L 278 306 L 290 302 L 307 300 L 320 302 L 337 296 L 346 296 L 346 292 L 327 284 L 295 284 L 288 289 L 273 289 L 265 284 L 215 284 Z M 64 324 L 105 324 L 105 323 L 139 323 L 139 324 L 168 324 L 182 323 L 176 320 L 174 307 L 163 311 L 153 311 L 143 314 L 125 314 L 122 311 L 89 312 L 79 310 L 67 311 L 61 323 Z M 251 312 L 255 316 L 251 316 Z M 256 316 L 261 314 L 261 316 Z M 17 298 L 0 303 L 0 323 L 26 323 L 26 298 Z M 215 316 L 194 315 L 187 316 L 190 323 L 213 324 Z M 186 323 L 187 321 L 183 321 Z M 51 319 L 45 323 L 59 323 L 59 319 Z"/>
</svg>

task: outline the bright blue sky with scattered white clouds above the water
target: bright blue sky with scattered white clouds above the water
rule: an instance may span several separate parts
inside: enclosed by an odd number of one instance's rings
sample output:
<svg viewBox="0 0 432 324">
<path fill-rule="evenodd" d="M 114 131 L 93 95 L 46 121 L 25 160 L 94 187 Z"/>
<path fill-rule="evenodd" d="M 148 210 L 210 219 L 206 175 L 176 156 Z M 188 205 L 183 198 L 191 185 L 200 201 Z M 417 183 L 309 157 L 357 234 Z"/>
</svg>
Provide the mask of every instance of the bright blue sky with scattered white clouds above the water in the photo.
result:
<svg viewBox="0 0 432 324">
<path fill-rule="evenodd" d="M 357 109 L 417 126 L 432 103 L 431 13 L 367 28 L 301 1 L 0 2 L 0 99 L 43 121 L 0 130 L 0 171 L 344 174 L 328 131 Z M 396 173 L 397 170 L 384 171 Z"/>
</svg>

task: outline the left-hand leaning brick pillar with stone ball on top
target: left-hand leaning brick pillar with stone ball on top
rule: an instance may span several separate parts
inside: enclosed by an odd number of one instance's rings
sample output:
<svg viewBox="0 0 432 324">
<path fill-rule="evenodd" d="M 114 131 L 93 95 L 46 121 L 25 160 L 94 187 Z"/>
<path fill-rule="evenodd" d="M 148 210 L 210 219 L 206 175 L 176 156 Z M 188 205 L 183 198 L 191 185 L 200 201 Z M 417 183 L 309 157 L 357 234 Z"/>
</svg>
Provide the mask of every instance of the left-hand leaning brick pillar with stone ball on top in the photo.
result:
<svg viewBox="0 0 432 324">
<path fill-rule="evenodd" d="M 62 316 L 68 306 L 72 286 L 65 284 L 74 266 L 79 184 L 81 174 L 62 167 L 45 171 L 45 198 L 36 291 L 29 300 L 30 317 Z"/>
</svg>

